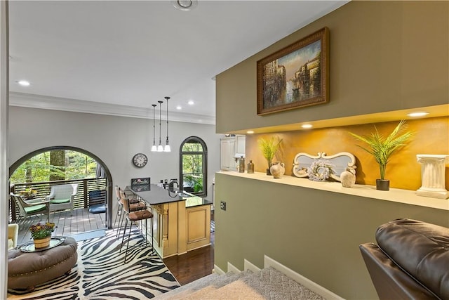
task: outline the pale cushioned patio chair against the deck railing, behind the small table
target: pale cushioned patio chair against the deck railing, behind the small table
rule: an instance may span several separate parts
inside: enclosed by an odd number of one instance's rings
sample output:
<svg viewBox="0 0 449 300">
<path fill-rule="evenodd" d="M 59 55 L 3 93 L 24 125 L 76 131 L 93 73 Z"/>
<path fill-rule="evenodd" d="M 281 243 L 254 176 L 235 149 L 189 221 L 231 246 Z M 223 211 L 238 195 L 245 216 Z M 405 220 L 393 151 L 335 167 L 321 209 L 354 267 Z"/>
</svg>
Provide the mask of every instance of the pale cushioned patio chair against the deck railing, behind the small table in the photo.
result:
<svg viewBox="0 0 449 300">
<path fill-rule="evenodd" d="M 46 200 L 50 200 L 50 211 L 70 209 L 73 214 L 73 202 L 78 189 L 78 183 L 52 185 L 50 195 Z"/>
</svg>

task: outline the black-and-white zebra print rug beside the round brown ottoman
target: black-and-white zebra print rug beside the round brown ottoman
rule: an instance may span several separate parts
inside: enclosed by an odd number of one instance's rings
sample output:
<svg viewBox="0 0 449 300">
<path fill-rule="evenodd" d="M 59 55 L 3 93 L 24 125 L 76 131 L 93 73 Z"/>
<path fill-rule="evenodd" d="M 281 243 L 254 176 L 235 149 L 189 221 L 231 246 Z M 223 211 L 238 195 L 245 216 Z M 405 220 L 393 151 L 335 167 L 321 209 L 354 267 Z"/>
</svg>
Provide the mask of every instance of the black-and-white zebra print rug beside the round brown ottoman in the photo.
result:
<svg viewBox="0 0 449 300">
<path fill-rule="evenodd" d="M 69 275 L 36 286 L 32 293 L 10 289 L 8 299 L 149 299 L 179 287 L 159 256 L 138 243 L 142 236 L 132 233 L 124 264 L 126 247 L 120 253 L 115 231 L 80 241 L 78 262 Z"/>
</svg>

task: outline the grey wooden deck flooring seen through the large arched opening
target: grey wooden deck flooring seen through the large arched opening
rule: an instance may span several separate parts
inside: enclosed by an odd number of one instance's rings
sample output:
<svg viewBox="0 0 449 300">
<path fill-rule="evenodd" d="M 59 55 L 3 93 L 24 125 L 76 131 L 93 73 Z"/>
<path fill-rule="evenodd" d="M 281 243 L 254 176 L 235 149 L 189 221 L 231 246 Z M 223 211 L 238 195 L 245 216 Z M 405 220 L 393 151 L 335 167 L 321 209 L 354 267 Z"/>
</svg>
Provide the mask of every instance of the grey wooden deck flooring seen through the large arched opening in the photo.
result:
<svg viewBox="0 0 449 300">
<path fill-rule="evenodd" d="M 41 217 L 29 216 L 27 219 L 18 222 L 18 244 L 23 244 L 31 240 L 31 234 L 28 228 L 39 221 L 45 222 L 46 215 L 42 215 Z M 50 214 L 50 221 L 55 223 L 56 226 L 53 235 L 67 236 L 106 228 L 105 213 L 92 214 L 88 209 L 74 209 L 72 215 L 70 211 L 56 211 Z"/>
</svg>

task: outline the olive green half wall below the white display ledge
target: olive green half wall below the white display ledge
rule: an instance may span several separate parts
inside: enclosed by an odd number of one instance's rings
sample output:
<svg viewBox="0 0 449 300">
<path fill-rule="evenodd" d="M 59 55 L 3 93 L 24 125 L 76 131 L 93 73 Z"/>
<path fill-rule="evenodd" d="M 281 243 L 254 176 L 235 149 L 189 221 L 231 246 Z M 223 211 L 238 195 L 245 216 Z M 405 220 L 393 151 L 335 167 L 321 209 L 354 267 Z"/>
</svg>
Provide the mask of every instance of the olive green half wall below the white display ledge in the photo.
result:
<svg viewBox="0 0 449 300">
<path fill-rule="evenodd" d="M 232 172 L 228 172 L 231 174 Z M 307 180 L 300 179 L 298 180 Z M 345 299 L 376 299 L 358 245 L 398 218 L 449 227 L 449 212 L 216 174 L 215 264 L 259 268 L 264 254 Z M 445 200 L 442 200 L 445 201 Z M 218 207 L 218 204 L 217 204 Z"/>
</svg>

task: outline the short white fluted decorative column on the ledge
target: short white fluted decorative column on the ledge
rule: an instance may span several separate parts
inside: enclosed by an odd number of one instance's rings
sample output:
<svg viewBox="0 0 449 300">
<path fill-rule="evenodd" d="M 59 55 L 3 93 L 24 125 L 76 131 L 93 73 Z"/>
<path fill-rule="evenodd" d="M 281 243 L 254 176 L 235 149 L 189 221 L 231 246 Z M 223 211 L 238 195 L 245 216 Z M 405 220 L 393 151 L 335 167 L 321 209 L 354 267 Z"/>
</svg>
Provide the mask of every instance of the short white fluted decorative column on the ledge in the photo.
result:
<svg viewBox="0 0 449 300">
<path fill-rule="evenodd" d="M 421 165 L 421 188 L 417 195 L 448 199 L 449 192 L 445 189 L 445 164 L 449 163 L 449 155 L 416 155 Z"/>
</svg>

